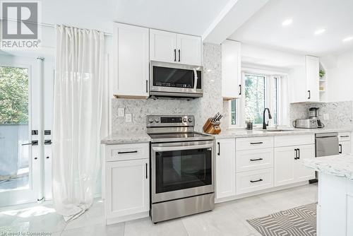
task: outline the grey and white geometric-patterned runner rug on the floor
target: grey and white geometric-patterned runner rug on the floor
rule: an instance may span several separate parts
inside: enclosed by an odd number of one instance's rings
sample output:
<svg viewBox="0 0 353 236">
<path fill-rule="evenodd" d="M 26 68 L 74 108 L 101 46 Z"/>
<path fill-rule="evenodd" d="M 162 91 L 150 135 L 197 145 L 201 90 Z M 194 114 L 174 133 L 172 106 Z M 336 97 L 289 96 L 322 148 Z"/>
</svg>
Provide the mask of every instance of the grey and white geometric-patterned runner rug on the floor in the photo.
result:
<svg viewBox="0 0 353 236">
<path fill-rule="evenodd" d="M 263 236 L 316 236 L 316 203 L 246 221 Z"/>
</svg>

